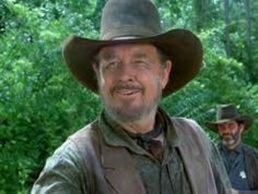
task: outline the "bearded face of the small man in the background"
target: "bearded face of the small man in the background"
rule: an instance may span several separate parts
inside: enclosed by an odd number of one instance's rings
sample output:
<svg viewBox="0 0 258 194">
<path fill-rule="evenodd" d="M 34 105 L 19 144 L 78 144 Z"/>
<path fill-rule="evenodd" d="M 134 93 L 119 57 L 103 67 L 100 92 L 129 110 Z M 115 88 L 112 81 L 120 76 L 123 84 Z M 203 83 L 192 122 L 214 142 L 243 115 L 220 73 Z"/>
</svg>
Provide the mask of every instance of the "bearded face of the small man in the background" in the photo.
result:
<svg viewBox="0 0 258 194">
<path fill-rule="evenodd" d="M 222 144 L 225 145 L 227 149 L 234 149 L 242 141 L 241 136 L 244 131 L 244 124 L 232 120 L 218 124 L 218 130 Z"/>
</svg>

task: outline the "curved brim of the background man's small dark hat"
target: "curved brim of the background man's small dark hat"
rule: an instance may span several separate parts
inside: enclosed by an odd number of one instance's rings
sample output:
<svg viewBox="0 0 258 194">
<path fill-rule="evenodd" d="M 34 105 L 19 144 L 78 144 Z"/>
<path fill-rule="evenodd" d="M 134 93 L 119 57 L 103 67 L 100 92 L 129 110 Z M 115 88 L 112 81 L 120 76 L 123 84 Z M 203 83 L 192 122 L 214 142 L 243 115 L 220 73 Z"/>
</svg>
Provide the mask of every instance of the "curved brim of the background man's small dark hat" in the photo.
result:
<svg viewBox="0 0 258 194">
<path fill-rule="evenodd" d="M 246 131 L 253 124 L 254 118 L 249 114 L 245 114 L 245 116 L 239 116 L 237 118 L 219 120 L 219 121 L 215 121 L 215 122 L 208 121 L 208 122 L 206 122 L 206 125 L 207 125 L 207 128 L 209 128 L 210 130 L 212 130 L 213 132 L 216 133 L 218 132 L 218 124 L 225 123 L 225 122 L 228 122 L 228 121 L 232 121 L 232 120 L 244 122 L 245 131 Z"/>
</svg>

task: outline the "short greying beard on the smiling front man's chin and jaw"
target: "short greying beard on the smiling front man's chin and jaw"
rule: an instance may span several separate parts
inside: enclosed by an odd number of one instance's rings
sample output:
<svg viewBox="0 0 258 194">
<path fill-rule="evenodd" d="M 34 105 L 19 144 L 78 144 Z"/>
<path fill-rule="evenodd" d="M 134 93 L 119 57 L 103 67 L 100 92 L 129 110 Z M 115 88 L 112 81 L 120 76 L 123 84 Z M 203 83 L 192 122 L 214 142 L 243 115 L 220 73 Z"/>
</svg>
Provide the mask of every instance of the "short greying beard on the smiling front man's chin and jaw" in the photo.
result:
<svg viewBox="0 0 258 194">
<path fill-rule="evenodd" d="M 144 95 L 144 89 L 141 89 L 142 95 Z M 142 99 L 141 104 L 138 106 L 131 105 L 130 101 L 125 101 L 122 105 L 110 104 L 106 100 L 104 92 L 101 89 L 101 99 L 104 105 L 105 111 L 115 120 L 122 123 L 134 122 L 150 114 L 153 110 L 156 110 L 157 105 L 162 98 L 162 86 L 160 80 L 156 85 L 156 94 L 153 99 L 146 104 Z"/>
</svg>

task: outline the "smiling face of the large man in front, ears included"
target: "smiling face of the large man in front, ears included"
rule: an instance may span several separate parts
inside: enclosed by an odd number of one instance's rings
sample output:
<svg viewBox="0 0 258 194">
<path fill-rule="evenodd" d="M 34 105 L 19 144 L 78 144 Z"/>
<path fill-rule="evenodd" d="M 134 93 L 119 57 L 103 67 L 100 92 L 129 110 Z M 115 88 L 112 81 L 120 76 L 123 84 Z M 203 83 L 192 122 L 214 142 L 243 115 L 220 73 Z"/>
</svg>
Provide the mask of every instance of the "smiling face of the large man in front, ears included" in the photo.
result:
<svg viewBox="0 0 258 194">
<path fill-rule="evenodd" d="M 156 47 L 115 45 L 102 48 L 97 57 L 99 95 L 115 120 L 133 122 L 156 110 L 172 66 L 171 61 L 162 64 Z"/>
</svg>

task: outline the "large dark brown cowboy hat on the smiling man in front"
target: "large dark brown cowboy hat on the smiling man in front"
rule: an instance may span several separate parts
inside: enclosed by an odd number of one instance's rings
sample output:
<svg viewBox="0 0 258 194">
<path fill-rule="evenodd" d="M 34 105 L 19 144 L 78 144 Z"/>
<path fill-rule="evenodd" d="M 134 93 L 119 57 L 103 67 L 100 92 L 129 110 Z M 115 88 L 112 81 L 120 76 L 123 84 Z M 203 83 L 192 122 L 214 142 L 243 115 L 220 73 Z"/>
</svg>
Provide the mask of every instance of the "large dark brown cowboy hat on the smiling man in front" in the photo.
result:
<svg viewBox="0 0 258 194">
<path fill-rule="evenodd" d="M 99 39 L 70 36 L 63 58 L 71 73 L 93 93 L 98 93 L 92 63 L 102 47 L 115 44 L 153 44 L 173 62 L 163 96 L 181 88 L 201 68 L 202 46 L 187 29 L 162 33 L 156 7 L 151 0 L 108 0 L 103 9 Z"/>
</svg>

